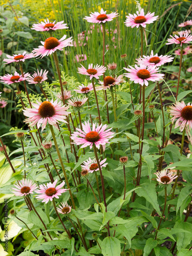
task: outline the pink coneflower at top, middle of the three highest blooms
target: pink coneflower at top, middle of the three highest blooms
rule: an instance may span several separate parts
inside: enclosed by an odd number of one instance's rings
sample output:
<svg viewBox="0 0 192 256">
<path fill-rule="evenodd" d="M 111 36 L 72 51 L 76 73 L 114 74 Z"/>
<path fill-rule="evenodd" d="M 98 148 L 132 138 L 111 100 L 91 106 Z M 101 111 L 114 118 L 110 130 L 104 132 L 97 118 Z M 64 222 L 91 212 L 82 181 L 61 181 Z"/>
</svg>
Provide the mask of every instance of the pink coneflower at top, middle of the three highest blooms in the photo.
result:
<svg viewBox="0 0 192 256">
<path fill-rule="evenodd" d="M 91 23 L 105 23 L 105 22 L 111 22 L 113 18 L 117 17 L 117 12 L 112 12 L 110 14 L 106 14 L 106 11 L 103 11 L 101 8 L 100 13 L 99 12 L 92 12 L 90 16 L 86 16 L 84 19 L 86 19 L 88 22 Z"/>
</svg>

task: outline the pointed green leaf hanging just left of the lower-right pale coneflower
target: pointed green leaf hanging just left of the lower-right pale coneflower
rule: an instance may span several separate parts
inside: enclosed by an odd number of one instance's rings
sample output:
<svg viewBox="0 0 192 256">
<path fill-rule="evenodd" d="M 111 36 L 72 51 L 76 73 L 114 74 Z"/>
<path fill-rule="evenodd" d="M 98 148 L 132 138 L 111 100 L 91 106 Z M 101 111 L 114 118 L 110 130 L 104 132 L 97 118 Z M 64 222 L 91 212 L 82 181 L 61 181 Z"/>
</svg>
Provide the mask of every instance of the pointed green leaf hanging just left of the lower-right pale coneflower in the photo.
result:
<svg viewBox="0 0 192 256">
<path fill-rule="evenodd" d="M 161 216 L 161 211 L 157 201 L 156 184 L 155 183 L 143 183 L 140 185 L 141 189 L 137 191 L 139 197 L 144 197 L 147 202 L 151 203 Z"/>
</svg>

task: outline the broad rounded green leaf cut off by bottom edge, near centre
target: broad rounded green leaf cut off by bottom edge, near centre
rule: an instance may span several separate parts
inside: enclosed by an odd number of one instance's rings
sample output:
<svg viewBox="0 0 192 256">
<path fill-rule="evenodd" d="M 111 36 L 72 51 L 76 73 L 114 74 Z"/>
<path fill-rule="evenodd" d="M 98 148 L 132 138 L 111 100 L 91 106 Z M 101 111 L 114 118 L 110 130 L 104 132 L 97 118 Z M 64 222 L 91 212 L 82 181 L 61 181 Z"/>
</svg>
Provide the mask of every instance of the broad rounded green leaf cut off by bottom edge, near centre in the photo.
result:
<svg viewBox="0 0 192 256">
<path fill-rule="evenodd" d="M 101 252 L 103 256 L 120 256 L 121 244 L 119 239 L 106 237 L 101 243 Z"/>
</svg>

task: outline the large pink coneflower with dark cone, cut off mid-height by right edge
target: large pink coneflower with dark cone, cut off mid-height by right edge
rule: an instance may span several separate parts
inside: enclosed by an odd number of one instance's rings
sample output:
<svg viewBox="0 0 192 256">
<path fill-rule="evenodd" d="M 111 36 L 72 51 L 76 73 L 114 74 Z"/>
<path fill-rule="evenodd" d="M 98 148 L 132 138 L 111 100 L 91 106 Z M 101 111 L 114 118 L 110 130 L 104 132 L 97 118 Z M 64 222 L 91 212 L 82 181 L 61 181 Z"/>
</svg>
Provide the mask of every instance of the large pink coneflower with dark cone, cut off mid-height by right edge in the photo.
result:
<svg viewBox="0 0 192 256">
<path fill-rule="evenodd" d="M 175 123 L 175 128 L 179 127 L 179 130 L 182 132 L 185 128 L 185 125 L 189 126 L 189 130 L 192 127 L 192 103 L 188 103 L 185 105 L 185 102 L 177 102 L 172 106 L 169 106 L 170 114 L 172 117 L 172 122 L 174 123 L 174 120 L 176 118 L 179 118 Z"/>
</svg>

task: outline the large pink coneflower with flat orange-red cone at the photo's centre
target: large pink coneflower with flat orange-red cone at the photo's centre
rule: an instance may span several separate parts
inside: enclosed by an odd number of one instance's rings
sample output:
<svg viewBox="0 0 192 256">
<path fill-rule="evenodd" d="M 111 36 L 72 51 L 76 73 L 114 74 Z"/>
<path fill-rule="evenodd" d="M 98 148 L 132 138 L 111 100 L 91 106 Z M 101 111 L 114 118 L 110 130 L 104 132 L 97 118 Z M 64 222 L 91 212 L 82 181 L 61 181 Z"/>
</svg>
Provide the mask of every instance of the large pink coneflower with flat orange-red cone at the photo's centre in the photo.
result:
<svg viewBox="0 0 192 256">
<path fill-rule="evenodd" d="M 114 133 L 111 132 L 112 128 L 105 131 L 106 127 L 108 127 L 108 125 L 102 125 L 101 123 L 101 125 L 98 124 L 96 128 L 96 124 L 93 123 L 93 128 L 91 130 L 89 121 L 87 123 L 85 122 L 85 124 L 82 124 L 83 131 L 76 128 L 78 132 L 74 132 L 71 139 L 74 140 L 74 144 L 83 144 L 81 147 L 90 146 L 90 148 L 92 148 L 93 143 L 97 148 L 102 145 L 104 151 L 105 144 L 110 143 L 109 139 L 111 139 L 114 135 Z"/>
</svg>

